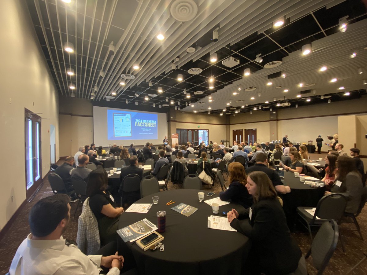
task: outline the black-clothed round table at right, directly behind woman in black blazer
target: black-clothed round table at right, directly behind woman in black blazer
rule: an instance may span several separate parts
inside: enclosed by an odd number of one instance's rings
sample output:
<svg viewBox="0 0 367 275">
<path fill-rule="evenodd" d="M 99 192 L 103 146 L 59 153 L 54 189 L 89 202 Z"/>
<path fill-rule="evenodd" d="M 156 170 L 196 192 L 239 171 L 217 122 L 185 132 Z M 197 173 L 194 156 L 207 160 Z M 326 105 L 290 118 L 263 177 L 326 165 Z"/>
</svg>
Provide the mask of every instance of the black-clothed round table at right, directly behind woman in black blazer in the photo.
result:
<svg viewBox="0 0 367 275">
<path fill-rule="evenodd" d="M 284 172 L 284 179 L 281 179 L 285 186 L 291 188 L 291 192 L 283 195 L 283 209 L 287 217 L 287 224 L 290 230 L 293 229 L 298 206 L 316 207 L 317 202 L 324 196 L 325 187 L 311 187 L 304 184 L 295 177 L 292 172 Z M 321 181 L 319 181 L 321 182 Z"/>
</svg>

